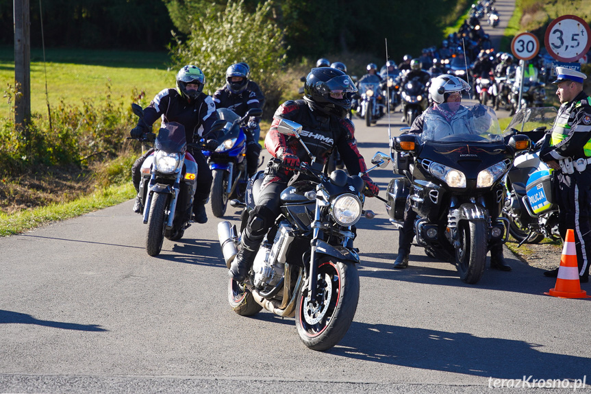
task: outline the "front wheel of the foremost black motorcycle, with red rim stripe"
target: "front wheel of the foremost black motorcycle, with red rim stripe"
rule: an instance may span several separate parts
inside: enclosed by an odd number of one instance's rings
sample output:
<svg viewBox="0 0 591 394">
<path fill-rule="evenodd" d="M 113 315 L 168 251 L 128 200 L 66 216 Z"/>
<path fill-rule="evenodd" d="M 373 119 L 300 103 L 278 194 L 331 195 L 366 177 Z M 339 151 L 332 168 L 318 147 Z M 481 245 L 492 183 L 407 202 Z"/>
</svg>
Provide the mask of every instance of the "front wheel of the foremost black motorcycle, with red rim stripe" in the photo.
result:
<svg viewBox="0 0 591 394">
<path fill-rule="evenodd" d="M 336 345 L 351 326 L 359 301 L 359 273 L 353 262 L 329 257 L 318 264 L 316 301 L 300 291 L 296 304 L 296 328 L 301 341 L 312 350 Z"/>
</svg>

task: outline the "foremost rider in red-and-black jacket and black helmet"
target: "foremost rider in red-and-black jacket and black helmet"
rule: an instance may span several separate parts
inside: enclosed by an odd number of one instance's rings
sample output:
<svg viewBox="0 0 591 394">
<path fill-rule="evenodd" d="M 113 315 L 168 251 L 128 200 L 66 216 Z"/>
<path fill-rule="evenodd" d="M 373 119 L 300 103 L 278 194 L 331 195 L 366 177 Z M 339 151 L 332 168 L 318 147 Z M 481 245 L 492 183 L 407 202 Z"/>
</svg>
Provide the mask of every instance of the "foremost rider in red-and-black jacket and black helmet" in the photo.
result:
<svg viewBox="0 0 591 394">
<path fill-rule="evenodd" d="M 315 68 L 307 75 L 304 89 L 303 99 L 286 101 L 277 108 L 266 135 L 265 147 L 273 158 L 268 162 L 257 206 L 251 211 L 242 234 L 238 256 L 228 272 L 229 277 L 238 282 L 244 281 L 262 239 L 279 214 L 281 192 L 292 180 L 301 162 L 310 163 L 311 160 L 296 138 L 277 132 L 281 119 L 303 125 L 306 133 L 302 133 L 301 138 L 318 162 L 325 163 L 336 148 L 349 173 L 366 171 L 364 158 L 353 137 L 355 127 L 346 119 L 351 102 L 344 93 L 355 91 L 351 78 L 337 69 Z M 377 195 L 377 184 L 368 175 L 362 178 L 366 182 L 364 193 Z"/>
</svg>

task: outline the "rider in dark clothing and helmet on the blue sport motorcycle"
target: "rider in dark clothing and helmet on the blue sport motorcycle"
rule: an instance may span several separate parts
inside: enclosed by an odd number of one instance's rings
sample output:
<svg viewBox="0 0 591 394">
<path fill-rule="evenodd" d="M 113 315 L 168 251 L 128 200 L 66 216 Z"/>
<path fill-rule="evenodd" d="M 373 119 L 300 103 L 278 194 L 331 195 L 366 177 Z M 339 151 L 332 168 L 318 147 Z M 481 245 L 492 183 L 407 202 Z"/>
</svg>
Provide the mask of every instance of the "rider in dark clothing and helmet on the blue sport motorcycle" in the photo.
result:
<svg viewBox="0 0 591 394">
<path fill-rule="evenodd" d="M 214 93 L 216 109 L 228 108 L 240 117 L 247 114 L 251 108 L 260 108 L 257 94 L 247 89 L 249 83 L 248 70 L 240 63 L 232 64 L 226 70 L 226 84 Z M 251 116 L 247 136 L 247 174 L 249 177 L 257 172 L 261 147 L 256 135 L 260 135 L 259 116 Z"/>
</svg>

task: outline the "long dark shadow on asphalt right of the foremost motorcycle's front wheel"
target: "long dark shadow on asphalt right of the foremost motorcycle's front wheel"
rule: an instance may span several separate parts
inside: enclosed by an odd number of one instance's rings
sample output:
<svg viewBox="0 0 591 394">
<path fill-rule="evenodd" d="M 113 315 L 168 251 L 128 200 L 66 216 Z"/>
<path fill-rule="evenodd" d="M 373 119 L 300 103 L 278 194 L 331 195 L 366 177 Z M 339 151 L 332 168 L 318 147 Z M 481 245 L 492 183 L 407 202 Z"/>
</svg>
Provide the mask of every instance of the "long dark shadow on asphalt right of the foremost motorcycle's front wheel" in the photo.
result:
<svg viewBox="0 0 591 394">
<path fill-rule="evenodd" d="M 589 373 L 591 358 L 548 353 L 543 348 L 466 332 L 353 321 L 347 335 L 329 352 L 383 364 L 496 378 L 582 379 Z"/>
</svg>

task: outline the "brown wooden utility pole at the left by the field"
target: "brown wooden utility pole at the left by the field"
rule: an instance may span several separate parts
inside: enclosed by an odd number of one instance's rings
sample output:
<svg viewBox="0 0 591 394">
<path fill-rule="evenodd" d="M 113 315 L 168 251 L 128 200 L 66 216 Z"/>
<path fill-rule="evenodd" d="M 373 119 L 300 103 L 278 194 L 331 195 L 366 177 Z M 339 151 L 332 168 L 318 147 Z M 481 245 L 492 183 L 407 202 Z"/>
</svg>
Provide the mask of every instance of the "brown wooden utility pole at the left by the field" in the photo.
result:
<svg viewBox="0 0 591 394">
<path fill-rule="evenodd" d="M 14 9 L 14 123 L 26 130 L 31 121 L 31 36 L 29 0 L 13 0 Z"/>
</svg>

